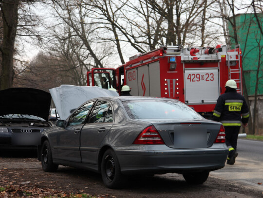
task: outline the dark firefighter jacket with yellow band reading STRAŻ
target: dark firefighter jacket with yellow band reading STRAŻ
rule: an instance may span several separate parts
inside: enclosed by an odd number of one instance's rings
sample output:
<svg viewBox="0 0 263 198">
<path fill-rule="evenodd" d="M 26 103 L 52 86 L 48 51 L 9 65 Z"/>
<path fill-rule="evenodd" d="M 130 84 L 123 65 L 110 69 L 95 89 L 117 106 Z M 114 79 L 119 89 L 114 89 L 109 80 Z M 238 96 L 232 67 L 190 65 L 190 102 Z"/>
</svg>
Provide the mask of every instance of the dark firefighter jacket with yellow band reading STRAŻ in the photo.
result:
<svg viewBox="0 0 263 198">
<path fill-rule="evenodd" d="M 219 96 L 213 120 L 221 122 L 223 126 L 241 126 L 241 122 L 244 124 L 248 122 L 248 117 L 249 109 L 245 99 L 236 90 L 227 90 Z"/>
</svg>

